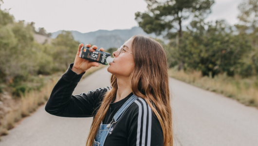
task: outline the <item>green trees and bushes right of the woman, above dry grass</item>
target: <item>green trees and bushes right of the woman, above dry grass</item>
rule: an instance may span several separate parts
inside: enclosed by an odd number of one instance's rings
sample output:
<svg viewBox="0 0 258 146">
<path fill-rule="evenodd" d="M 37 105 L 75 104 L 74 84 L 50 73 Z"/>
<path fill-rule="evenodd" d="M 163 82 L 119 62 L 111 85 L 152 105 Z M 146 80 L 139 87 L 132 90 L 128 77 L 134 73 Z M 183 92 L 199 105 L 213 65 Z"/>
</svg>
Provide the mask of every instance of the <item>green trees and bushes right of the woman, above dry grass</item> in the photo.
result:
<svg viewBox="0 0 258 146">
<path fill-rule="evenodd" d="M 244 0 L 239 5 L 240 24 L 235 26 L 224 20 L 204 22 L 214 0 L 146 2 L 148 11 L 135 13 L 135 19 L 145 32 L 170 38 L 164 47 L 169 67 L 212 77 L 219 73 L 258 75 L 258 0 Z M 182 32 L 182 21 L 191 16 L 190 25 Z"/>
</svg>

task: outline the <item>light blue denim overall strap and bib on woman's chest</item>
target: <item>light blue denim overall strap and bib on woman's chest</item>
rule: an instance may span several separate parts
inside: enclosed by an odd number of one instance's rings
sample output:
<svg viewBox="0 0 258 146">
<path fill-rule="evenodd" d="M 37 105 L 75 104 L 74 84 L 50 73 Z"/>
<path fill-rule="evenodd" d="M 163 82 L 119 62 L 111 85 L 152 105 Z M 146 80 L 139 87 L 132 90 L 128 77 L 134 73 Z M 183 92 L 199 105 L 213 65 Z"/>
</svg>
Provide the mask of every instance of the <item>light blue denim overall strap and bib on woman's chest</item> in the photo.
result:
<svg viewBox="0 0 258 146">
<path fill-rule="evenodd" d="M 99 125 L 97 135 L 94 138 L 94 143 L 92 146 L 104 146 L 105 140 L 112 131 L 112 126 L 114 123 L 116 123 L 124 114 L 124 112 L 128 109 L 128 107 L 139 97 L 132 95 L 125 103 L 124 105 L 116 112 L 116 114 L 113 117 L 113 120 L 110 124 L 103 124 L 101 121 L 101 124 Z"/>
</svg>

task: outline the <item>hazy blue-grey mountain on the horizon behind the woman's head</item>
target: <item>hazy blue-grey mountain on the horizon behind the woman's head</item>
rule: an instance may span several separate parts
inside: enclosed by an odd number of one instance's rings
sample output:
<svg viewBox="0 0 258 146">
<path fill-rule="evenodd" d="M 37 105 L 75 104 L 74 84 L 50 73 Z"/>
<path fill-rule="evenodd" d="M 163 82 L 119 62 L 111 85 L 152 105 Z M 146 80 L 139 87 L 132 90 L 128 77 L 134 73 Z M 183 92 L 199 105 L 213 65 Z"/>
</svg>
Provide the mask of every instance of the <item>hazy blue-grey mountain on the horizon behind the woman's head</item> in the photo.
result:
<svg viewBox="0 0 258 146">
<path fill-rule="evenodd" d="M 57 31 L 52 33 L 52 38 L 57 37 L 62 31 Z M 125 30 L 98 30 L 95 32 L 89 33 L 80 33 L 78 31 L 71 31 L 74 39 L 79 41 L 80 43 L 87 44 L 91 43 L 93 45 L 98 46 L 98 48 L 103 47 L 104 49 L 108 49 L 111 47 L 118 48 L 124 44 L 126 40 L 134 35 L 144 35 L 155 38 L 154 34 L 146 34 L 142 28 L 140 27 L 132 27 L 131 29 Z M 159 37 L 162 38 L 162 37 Z"/>
</svg>

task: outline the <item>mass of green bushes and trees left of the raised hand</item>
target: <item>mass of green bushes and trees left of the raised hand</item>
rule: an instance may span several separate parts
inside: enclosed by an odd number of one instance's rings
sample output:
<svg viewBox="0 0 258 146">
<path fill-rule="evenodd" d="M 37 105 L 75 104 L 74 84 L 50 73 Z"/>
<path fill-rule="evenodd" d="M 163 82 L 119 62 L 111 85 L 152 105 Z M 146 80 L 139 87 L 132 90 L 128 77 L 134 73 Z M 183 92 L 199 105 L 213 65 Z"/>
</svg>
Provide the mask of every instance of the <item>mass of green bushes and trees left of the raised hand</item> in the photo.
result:
<svg viewBox="0 0 258 146">
<path fill-rule="evenodd" d="M 2 0 L 0 0 L 1 2 Z M 34 22 L 14 21 L 7 10 L 0 9 L 0 91 L 7 85 L 16 96 L 31 89 L 40 89 L 42 81 L 27 85 L 27 81 L 40 74 L 65 71 L 74 61 L 79 42 L 63 31 L 52 44 L 39 44 L 34 33 L 50 36 L 44 28 L 37 32 Z M 40 83 L 40 84 L 39 84 Z"/>
</svg>

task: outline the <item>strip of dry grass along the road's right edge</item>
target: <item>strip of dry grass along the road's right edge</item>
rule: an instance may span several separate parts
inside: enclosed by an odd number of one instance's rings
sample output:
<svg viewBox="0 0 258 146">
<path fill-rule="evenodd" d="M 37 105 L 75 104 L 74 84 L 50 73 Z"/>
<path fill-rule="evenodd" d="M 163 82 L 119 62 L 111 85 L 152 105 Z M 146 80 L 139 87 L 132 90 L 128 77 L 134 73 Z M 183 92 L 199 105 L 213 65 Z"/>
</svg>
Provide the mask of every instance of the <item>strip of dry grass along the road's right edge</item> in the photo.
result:
<svg viewBox="0 0 258 146">
<path fill-rule="evenodd" d="M 226 74 L 219 74 L 214 78 L 202 76 L 201 72 L 175 71 L 169 69 L 169 76 L 182 80 L 186 83 L 198 86 L 205 90 L 221 93 L 227 97 L 238 100 L 248 106 L 258 107 L 258 78 L 241 78 L 239 75 L 228 77 Z"/>
</svg>

